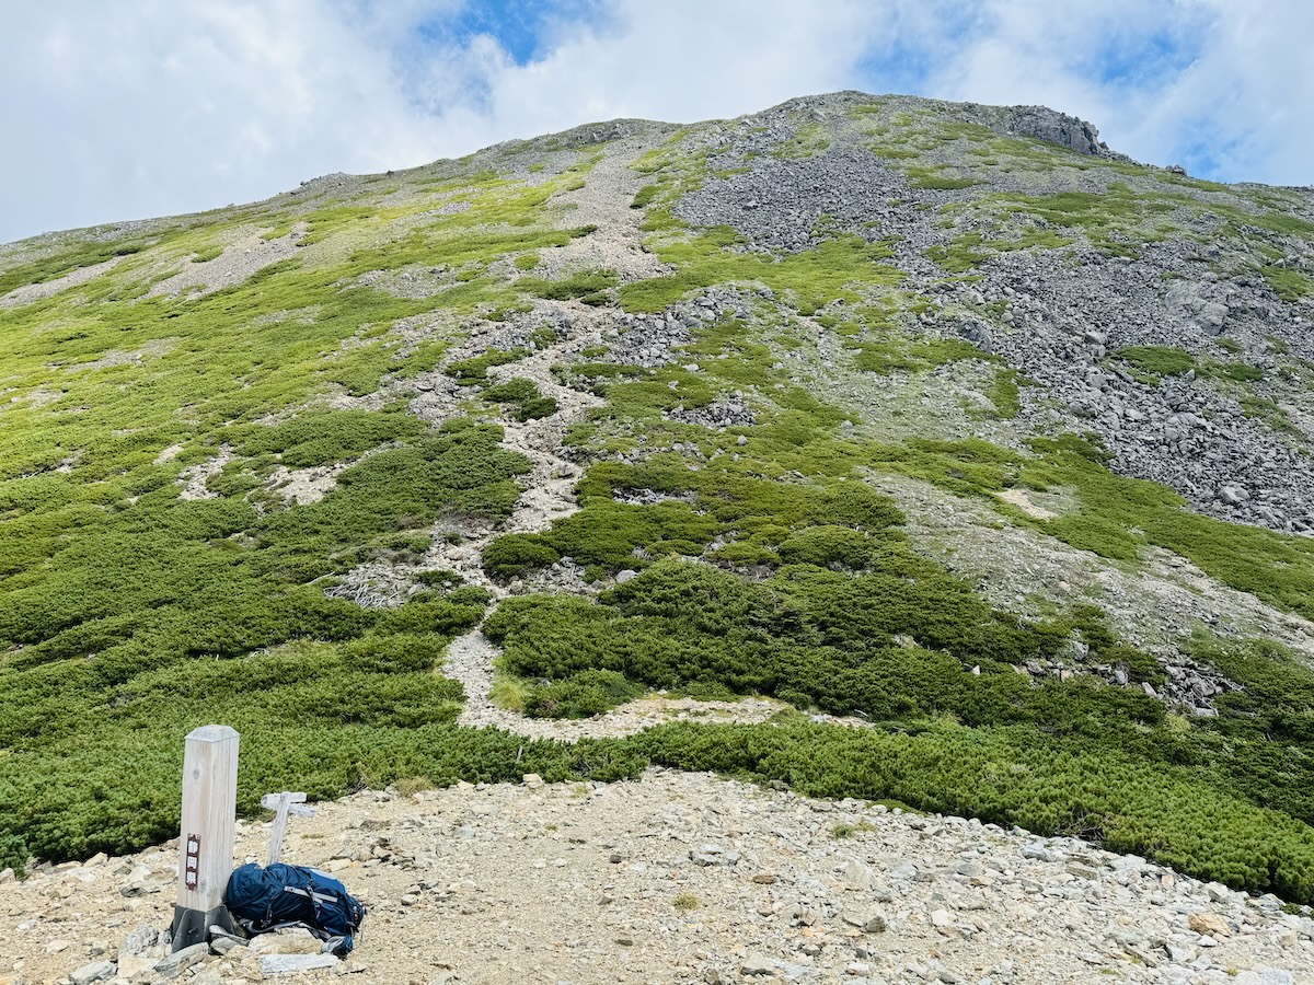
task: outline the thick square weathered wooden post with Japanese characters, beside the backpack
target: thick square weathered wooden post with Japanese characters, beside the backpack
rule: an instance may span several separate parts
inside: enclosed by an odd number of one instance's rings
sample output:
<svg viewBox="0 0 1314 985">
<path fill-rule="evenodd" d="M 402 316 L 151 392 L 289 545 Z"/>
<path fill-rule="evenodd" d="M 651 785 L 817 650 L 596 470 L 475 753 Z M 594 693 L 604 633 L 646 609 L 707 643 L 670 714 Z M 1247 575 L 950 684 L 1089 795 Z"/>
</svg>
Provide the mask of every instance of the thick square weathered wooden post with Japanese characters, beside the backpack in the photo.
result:
<svg viewBox="0 0 1314 985">
<path fill-rule="evenodd" d="M 173 950 L 198 944 L 212 923 L 231 930 L 223 889 L 233 872 L 238 802 L 238 734 L 205 725 L 183 753 L 183 834 L 179 843 Z"/>
</svg>

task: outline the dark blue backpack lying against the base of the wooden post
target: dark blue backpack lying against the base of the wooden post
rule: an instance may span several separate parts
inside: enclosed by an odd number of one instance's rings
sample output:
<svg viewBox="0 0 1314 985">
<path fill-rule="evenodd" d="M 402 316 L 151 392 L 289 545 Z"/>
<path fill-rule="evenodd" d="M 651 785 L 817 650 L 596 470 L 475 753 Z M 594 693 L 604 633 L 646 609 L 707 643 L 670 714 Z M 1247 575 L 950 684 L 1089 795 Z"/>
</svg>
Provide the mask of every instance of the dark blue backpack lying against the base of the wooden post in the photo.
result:
<svg viewBox="0 0 1314 985">
<path fill-rule="evenodd" d="M 336 879 L 307 868 L 275 863 L 242 865 L 229 876 L 223 905 L 248 934 L 305 927 L 344 956 L 356 946 L 365 908 Z"/>
</svg>

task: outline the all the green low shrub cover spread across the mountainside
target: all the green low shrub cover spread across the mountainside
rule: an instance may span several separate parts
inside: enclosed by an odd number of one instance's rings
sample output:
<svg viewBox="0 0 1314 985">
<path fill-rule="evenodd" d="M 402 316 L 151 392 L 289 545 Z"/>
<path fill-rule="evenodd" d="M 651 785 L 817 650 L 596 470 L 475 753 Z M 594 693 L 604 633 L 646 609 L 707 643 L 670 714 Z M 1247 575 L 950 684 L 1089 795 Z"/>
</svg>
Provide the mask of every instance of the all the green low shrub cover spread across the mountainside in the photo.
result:
<svg viewBox="0 0 1314 985">
<path fill-rule="evenodd" d="M 951 126 L 945 134 L 995 139 Z M 805 134 L 788 152 L 813 152 L 824 139 Z M 918 156 L 882 150 L 892 162 Z M 1009 165 L 1095 167 L 1020 141 L 995 139 L 989 152 Z M 1126 563 L 1147 544 L 1176 550 L 1310 616 L 1314 548 L 1190 514 L 1163 487 L 1110 473 L 1106 453 L 1077 436 L 1038 440 L 1030 453 L 983 440 L 855 437 L 866 422 L 777 370 L 767 332 L 802 352 L 807 334 L 833 331 L 858 372 L 929 373 L 980 353 L 896 331 L 925 298 L 900 290 L 890 247 L 866 234 L 771 257 L 745 251 L 728 229 L 686 229 L 671 206 L 710 173 L 707 155 L 675 138 L 637 162 L 652 177 L 633 205 L 670 273 L 629 284 L 608 271 L 549 278 L 536 261 L 594 231 L 560 229 L 560 214 L 547 211 L 556 193 L 579 186 L 591 156 L 532 186 L 491 169 L 426 172 L 397 179 L 413 183 L 414 196 L 298 196 L 296 211 L 267 202 L 167 221 L 0 272 L 3 294 L 118 257 L 88 284 L 0 309 L 0 380 L 12 390 L 0 415 L 0 867 L 172 837 L 183 737 L 221 720 L 243 734 L 244 814 L 261 793 L 289 785 L 330 797 L 401 777 L 615 780 L 657 762 L 1080 835 L 1314 901 L 1314 686 L 1303 665 L 1264 642 L 1201 637 L 1196 658 L 1244 690 L 1219 696 L 1218 717 L 1200 721 L 1089 674 L 1033 684 L 1014 667 L 1041 657 L 1121 667 L 1133 682 L 1158 683 L 1162 670 L 1091 607 L 1037 621 L 993 609 L 909 546 L 894 502 L 865 479 L 896 473 L 963 495 L 1062 489 L 1074 508 L 1053 520 L 997 508 Z M 908 176 L 945 188 L 975 180 L 928 168 Z M 431 193 L 463 209 L 436 214 Z M 1246 235 L 1309 238 L 1314 229 L 1268 211 L 1273 205 L 1229 213 L 1126 186 L 978 202 L 999 231 L 934 250 L 949 269 L 1079 239 L 1130 250 L 1183 205 L 1208 208 Z M 298 251 L 204 297 L 148 296 L 162 272 L 209 256 L 235 230 L 272 239 L 297 223 L 301 242 L 328 248 Z M 420 298 L 371 286 L 374 272 L 410 265 L 451 276 Z M 528 276 L 503 276 L 512 269 Z M 1303 274 L 1263 273 L 1284 297 L 1309 288 Z M 741 293 L 744 318 L 692 328 L 685 359 L 560 370 L 562 383 L 603 398 L 568 432 L 579 460 L 594 462 L 578 487 L 581 510 L 484 553 L 499 579 L 565 556 L 590 578 L 637 577 L 591 598 L 507 599 L 491 613 L 489 595 L 452 573 L 418 578 L 394 609 L 332 598 L 361 566 L 418 561 L 440 521 L 505 519 L 530 462 L 502 447 L 495 427 L 459 419 L 431 429 L 405 412 L 405 398 L 364 411 L 330 410 L 336 401 L 326 397 L 374 394 L 382 382 L 403 394 L 407 378 L 442 368 L 499 414 L 545 416 L 556 407 L 531 381 L 491 378 L 493 366 L 528 349 L 448 364 L 463 330 L 439 338 L 442 326 L 502 320 L 535 297 L 661 311 L 725 284 L 769 290 Z M 419 323 L 435 338 L 415 344 L 399 331 Z M 540 331 L 526 344 L 555 339 Z M 600 360 L 606 347 L 586 352 Z M 1247 391 L 1247 410 L 1260 407 L 1248 393 L 1257 370 L 1234 359 L 1242 353 L 1215 355 L 1190 366 L 1171 349 L 1116 357 L 1144 374 L 1193 368 Z M 1022 381 L 995 372 L 997 412 L 1013 415 Z M 690 423 L 690 411 L 727 394 L 749 405 L 752 426 Z M 841 428 L 846 419 L 859 427 Z M 640 448 L 629 456 L 640 464 L 618 461 Z M 280 466 L 328 465 L 344 468 L 319 502 L 286 503 L 272 489 Z M 180 479 L 210 498 L 181 499 Z M 595 714 L 662 687 L 774 695 L 799 709 L 862 714 L 872 728 L 790 713 L 577 745 L 460 729 L 461 688 L 439 671 L 451 640 L 485 617 L 503 647 L 499 683 L 530 714 Z"/>
</svg>

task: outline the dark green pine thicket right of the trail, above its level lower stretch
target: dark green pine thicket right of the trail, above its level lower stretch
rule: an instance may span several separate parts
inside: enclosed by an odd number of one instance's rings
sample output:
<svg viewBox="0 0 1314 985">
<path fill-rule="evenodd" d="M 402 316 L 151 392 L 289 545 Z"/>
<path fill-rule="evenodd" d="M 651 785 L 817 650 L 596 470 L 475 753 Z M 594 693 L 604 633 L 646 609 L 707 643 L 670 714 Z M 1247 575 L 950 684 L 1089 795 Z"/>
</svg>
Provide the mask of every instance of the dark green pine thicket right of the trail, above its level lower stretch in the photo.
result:
<svg viewBox="0 0 1314 985">
<path fill-rule="evenodd" d="M 1185 730 L 1160 703 L 1093 676 L 1037 686 L 1014 667 L 1072 654 L 1074 636 L 1092 665 L 1122 666 L 1142 680 L 1160 680 L 1162 671 L 1091 608 L 1038 624 L 992 612 L 897 542 L 876 550 L 861 574 L 798 563 L 761 583 L 666 559 L 597 600 L 509 599 L 484 629 L 502 645 L 506 672 L 526 682 L 531 714 L 587 714 L 633 695 L 615 676 L 607 678 L 614 691 L 598 687 L 604 671 L 689 693 L 774 695 L 899 728 L 949 716 L 1007 729 L 1022 749 L 1062 742 L 1138 770 L 1180 770 L 1202 791 L 1314 821 L 1314 758 L 1272 741 L 1303 741 L 1314 687 L 1306 668 L 1272 655 L 1248 661 L 1248 678 L 1238 676 L 1256 682 L 1260 700 L 1282 682 L 1286 696 L 1259 718 L 1247 704 L 1221 700 L 1219 718 Z M 576 700 L 586 687 L 589 701 Z"/>
</svg>

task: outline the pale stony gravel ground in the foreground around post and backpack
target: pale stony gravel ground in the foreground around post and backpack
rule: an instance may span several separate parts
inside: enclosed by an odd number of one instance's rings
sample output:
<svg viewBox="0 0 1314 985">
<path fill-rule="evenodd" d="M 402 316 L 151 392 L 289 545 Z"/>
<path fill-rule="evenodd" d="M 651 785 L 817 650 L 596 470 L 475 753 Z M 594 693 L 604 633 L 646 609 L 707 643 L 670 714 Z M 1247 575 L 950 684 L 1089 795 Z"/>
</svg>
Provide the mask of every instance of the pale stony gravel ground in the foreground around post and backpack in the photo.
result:
<svg viewBox="0 0 1314 985">
<path fill-rule="evenodd" d="M 268 825 L 243 826 L 238 860 L 263 862 L 267 843 Z M 96 963 L 112 976 L 135 929 L 170 922 L 175 859 L 0 885 L 0 982 L 68 982 Z M 284 860 L 332 871 L 369 908 L 347 961 L 292 981 L 1314 981 L 1314 922 L 1273 897 L 1083 842 L 703 774 L 363 792 L 293 818 Z M 247 948 L 187 974 L 261 980 Z"/>
</svg>

